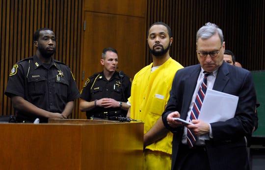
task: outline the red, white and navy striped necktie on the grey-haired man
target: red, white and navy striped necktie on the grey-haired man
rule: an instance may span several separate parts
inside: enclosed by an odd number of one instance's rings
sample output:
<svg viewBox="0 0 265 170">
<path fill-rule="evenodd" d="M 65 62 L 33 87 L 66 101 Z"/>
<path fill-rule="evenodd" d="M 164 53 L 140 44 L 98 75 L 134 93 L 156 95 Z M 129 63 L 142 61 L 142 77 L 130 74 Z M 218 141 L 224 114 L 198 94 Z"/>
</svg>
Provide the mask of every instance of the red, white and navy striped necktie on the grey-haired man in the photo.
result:
<svg viewBox="0 0 265 170">
<path fill-rule="evenodd" d="M 210 73 L 208 72 L 204 72 L 203 82 L 196 96 L 193 108 L 190 113 L 189 121 L 192 121 L 193 119 L 195 120 L 198 119 L 198 116 L 200 114 L 200 110 L 202 107 L 203 99 L 204 99 L 204 96 L 207 90 L 207 76 L 209 74 Z M 189 129 L 187 129 L 187 145 L 191 148 L 193 147 L 195 143 L 196 143 L 196 136 Z"/>
</svg>

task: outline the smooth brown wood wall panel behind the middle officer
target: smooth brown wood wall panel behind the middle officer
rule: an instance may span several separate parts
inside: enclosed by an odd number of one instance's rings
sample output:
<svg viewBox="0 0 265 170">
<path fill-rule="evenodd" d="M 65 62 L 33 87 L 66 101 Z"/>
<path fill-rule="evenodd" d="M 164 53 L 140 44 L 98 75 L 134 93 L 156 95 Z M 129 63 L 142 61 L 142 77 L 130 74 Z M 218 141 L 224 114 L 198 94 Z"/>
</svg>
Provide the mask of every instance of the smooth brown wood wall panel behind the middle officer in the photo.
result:
<svg viewBox="0 0 265 170">
<path fill-rule="evenodd" d="M 145 66 L 146 2 L 144 0 L 84 0 L 85 31 L 82 35 L 83 84 L 91 75 L 102 72 L 102 50 L 118 51 L 118 68 L 133 78 Z M 83 87 L 80 87 L 80 90 Z M 79 112 L 79 119 L 86 119 Z"/>
</svg>

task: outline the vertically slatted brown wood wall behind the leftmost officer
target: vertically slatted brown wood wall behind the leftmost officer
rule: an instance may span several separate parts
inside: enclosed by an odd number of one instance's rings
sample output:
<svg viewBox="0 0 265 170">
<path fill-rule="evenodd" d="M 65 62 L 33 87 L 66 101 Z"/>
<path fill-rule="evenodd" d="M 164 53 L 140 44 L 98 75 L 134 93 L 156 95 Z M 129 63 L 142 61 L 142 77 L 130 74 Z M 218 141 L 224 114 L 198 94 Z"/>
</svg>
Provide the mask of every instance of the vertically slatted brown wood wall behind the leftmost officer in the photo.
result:
<svg viewBox="0 0 265 170">
<path fill-rule="evenodd" d="M 35 54 L 32 36 L 39 28 L 53 29 L 54 58 L 66 63 L 77 77 L 81 17 L 82 0 L 0 0 L 0 115 L 14 114 L 10 98 L 4 96 L 8 74 L 17 61 Z M 77 111 L 76 107 L 71 117 L 77 117 Z"/>
</svg>

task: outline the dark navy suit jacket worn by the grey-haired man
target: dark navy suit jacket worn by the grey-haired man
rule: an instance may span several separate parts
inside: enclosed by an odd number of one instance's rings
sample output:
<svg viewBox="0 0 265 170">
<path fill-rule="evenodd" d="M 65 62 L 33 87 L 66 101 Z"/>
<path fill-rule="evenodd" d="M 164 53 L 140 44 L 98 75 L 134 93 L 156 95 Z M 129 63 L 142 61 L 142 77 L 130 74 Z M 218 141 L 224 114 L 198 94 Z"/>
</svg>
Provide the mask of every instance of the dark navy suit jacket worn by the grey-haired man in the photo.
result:
<svg viewBox="0 0 265 170">
<path fill-rule="evenodd" d="M 166 118 L 169 113 L 178 111 L 181 118 L 186 119 L 200 71 L 201 66 L 198 64 L 176 73 L 170 98 L 162 115 L 165 127 L 174 133 L 172 170 L 175 164 L 178 164 L 176 156 L 184 128 L 170 127 Z M 219 67 L 213 90 L 238 96 L 239 99 L 234 118 L 211 123 L 213 138 L 205 141 L 210 167 L 212 170 L 248 170 L 244 137 L 251 134 L 255 113 L 256 92 L 252 75 L 245 69 L 223 62 Z"/>
</svg>

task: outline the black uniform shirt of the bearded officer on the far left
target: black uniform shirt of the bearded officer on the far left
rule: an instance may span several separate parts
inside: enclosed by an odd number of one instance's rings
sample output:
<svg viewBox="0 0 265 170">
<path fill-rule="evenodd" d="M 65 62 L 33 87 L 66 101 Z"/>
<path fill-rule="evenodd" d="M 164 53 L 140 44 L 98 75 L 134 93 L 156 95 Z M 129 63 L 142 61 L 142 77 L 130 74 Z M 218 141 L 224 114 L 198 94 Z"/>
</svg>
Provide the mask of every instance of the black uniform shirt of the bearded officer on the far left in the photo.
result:
<svg viewBox="0 0 265 170">
<path fill-rule="evenodd" d="M 53 113 L 61 113 L 67 102 L 80 97 L 68 66 L 54 59 L 51 64 L 43 64 L 36 55 L 13 66 L 5 90 L 6 96 L 11 97 L 11 94 Z M 29 113 L 17 114 L 26 120 L 34 121 L 37 118 Z M 40 120 L 48 121 L 47 118 Z"/>
</svg>

